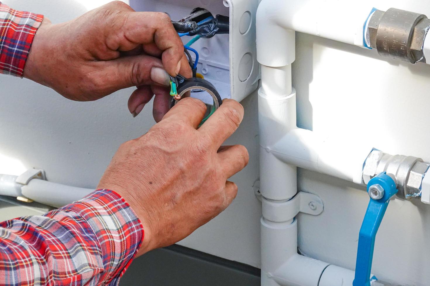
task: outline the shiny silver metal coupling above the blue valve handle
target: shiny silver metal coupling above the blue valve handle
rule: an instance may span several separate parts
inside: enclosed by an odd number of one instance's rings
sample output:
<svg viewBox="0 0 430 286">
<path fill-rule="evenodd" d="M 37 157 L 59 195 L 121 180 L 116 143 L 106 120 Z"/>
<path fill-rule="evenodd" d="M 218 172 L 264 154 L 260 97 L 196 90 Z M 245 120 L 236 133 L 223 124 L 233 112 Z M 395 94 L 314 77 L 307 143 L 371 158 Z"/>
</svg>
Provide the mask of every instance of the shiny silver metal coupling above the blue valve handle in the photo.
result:
<svg viewBox="0 0 430 286">
<path fill-rule="evenodd" d="M 429 166 L 421 158 L 373 150 L 363 167 L 363 181 L 367 185 L 376 175 L 387 172 L 396 178 L 399 190 L 396 196 L 400 199 L 412 199 L 420 196 L 422 181 Z"/>
</svg>

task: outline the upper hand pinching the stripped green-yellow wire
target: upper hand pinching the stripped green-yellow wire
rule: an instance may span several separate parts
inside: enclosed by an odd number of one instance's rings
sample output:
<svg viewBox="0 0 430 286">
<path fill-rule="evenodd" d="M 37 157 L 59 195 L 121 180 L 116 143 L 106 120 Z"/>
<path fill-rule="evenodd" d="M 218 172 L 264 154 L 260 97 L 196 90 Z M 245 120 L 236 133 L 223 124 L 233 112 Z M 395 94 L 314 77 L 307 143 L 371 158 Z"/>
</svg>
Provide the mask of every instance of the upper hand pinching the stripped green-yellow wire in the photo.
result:
<svg viewBox="0 0 430 286">
<path fill-rule="evenodd" d="M 45 18 L 24 69 L 24 77 L 77 101 L 136 86 L 130 112 L 137 115 L 155 94 L 157 122 L 169 110 L 169 75 L 178 73 L 190 77 L 191 69 L 169 16 L 120 1 L 66 23 Z"/>
</svg>

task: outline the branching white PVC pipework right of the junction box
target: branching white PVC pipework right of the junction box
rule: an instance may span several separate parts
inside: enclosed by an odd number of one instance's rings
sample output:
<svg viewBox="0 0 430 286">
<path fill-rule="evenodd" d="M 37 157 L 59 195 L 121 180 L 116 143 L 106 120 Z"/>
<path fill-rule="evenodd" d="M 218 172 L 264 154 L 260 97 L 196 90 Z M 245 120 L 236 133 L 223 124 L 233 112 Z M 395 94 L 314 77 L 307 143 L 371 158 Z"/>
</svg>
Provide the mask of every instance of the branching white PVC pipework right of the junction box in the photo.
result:
<svg viewBox="0 0 430 286">
<path fill-rule="evenodd" d="M 273 205 L 297 193 L 296 166 L 361 183 L 362 165 L 372 146 L 360 146 L 357 151 L 351 142 L 328 141 L 298 129 L 291 77 L 295 30 L 362 45 L 363 24 L 372 6 L 350 2 L 354 1 L 263 0 L 258 7 L 260 191 Z M 351 5 L 358 8 L 351 9 Z M 261 285 L 319 286 L 328 266 L 297 253 L 297 220 L 287 216 L 278 217 L 277 222 L 261 218 Z M 349 281 L 351 273 L 330 268 L 324 277 L 335 275 Z"/>
</svg>

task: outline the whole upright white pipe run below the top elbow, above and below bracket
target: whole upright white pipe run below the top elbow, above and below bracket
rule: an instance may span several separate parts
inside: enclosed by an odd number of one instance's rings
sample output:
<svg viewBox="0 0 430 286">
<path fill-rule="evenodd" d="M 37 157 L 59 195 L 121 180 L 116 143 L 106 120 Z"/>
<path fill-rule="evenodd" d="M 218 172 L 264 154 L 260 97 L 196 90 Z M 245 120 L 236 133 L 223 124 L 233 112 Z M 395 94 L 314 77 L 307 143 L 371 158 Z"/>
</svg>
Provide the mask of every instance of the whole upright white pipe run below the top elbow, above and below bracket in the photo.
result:
<svg viewBox="0 0 430 286">
<path fill-rule="evenodd" d="M 294 43 L 293 43 L 294 45 Z M 291 65 L 261 67 L 258 90 L 260 136 L 260 191 L 267 199 L 284 202 L 297 193 L 297 168 L 281 162 L 271 149 L 280 138 L 296 128 L 295 92 L 291 86 Z M 274 272 L 297 254 L 297 223 L 261 218 L 261 285 L 277 286 Z"/>
</svg>

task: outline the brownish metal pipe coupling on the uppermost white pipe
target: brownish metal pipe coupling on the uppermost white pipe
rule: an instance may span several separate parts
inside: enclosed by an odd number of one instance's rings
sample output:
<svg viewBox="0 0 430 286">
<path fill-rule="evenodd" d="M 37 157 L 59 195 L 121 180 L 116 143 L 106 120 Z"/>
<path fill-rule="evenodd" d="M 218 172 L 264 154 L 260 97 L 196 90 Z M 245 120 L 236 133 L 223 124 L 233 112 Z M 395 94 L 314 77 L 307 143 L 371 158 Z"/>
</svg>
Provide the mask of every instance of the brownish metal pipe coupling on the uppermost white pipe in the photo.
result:
<svg viewBox="0 0 430 286">
<path fill-rule="evenodd" d="M 426 62 L 424 39 L 430 27 L 426 15 L 390 8 L 376 10 L 369 20 L 369 45 L 378 54 L 410 63 Z"/>
</svg>

